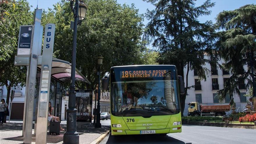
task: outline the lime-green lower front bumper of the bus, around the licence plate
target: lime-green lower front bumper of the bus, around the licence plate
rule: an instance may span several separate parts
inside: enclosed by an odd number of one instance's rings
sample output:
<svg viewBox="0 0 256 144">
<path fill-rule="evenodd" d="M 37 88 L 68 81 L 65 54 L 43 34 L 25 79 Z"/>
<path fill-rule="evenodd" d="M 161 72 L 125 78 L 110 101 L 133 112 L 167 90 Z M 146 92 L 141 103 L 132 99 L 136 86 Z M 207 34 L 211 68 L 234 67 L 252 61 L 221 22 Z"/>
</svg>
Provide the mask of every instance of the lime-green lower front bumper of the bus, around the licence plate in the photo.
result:
<svg viewBox="0 0 256 144">
<path fill-rule="evenodd" d="M 111 135 L 132 135 L 132 134 L 141 134 L 141 131 L 152 131 L 151 129 L 145 129 L 145 130 L 118 130 L 118 132 L 113 131 L 111 129 Z M 155 129 L 154 134 L 168 134 L 168 133 L 176 133 L 176 132 L 181 132 L 182 129 Z"/>
</svg>

